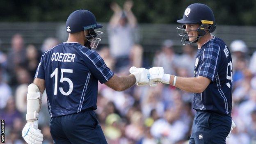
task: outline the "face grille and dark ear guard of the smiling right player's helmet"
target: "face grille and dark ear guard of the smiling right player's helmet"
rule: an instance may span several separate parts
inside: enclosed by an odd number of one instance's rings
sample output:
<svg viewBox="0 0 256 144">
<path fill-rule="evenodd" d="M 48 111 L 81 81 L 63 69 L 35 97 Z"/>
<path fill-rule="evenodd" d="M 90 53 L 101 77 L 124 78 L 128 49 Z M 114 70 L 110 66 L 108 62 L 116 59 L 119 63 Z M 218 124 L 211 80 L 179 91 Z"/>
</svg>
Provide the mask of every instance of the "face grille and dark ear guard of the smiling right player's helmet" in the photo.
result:
<svg viewBox="0 0 256 144">
<path fill-rule="evenodd" d="M 182 45 L 189 45 L 191 43 L 196 43 L 200 37 L 203 37 L 204 35 L 211 33 L 215 30 L 216 25 L 208 24 L 208 23 L 202 23 L 201 26 L 197 30 L 188 30 L 186 32 L 186 25 L 183 24 L 183 26 L 177 27 L 178 37 L 181 40 Z M 188 32 L 191 31 L 197 31 L 198 36 L 195 37 L 196 39 L 194 41 L 189 41 L 189 38 L 194 36 L 188 36 Z"/>
</svg>

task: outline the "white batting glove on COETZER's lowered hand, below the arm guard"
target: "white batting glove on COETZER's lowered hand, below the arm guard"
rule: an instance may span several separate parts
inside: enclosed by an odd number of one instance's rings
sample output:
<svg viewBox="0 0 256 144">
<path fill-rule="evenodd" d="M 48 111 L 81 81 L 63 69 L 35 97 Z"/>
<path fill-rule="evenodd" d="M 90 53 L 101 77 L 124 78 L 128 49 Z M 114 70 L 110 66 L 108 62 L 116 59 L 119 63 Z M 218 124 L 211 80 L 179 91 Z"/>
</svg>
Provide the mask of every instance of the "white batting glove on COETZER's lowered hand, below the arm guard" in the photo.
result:
<svg viewBox="0 0 256 144">
<path fill-rule="evenodd" d="M 38 120 L 26 123 L 22 130 L 22 137 L 28 144 L 42 144 L 43 134 L 38 129 Z"/>
</svg>

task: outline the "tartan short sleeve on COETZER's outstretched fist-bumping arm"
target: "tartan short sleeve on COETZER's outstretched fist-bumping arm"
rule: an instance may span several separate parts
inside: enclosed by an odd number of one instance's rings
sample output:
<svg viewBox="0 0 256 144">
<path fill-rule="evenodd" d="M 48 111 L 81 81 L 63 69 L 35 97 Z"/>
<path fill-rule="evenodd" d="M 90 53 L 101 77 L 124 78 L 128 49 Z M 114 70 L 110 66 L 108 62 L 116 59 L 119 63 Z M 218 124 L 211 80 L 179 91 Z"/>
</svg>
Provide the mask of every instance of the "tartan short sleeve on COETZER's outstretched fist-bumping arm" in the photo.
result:
<svg viewBox="0 0 256 144">
<path fill-rule="evenodd" d="M 98 81 L 105 83 L 112 78 L 114 73 L 107 67 L 102 57 L 96 51 L 87 50 L 87 52 L 84 52 L 81 50 L 81 52 L 86 56 L 86 65 L 91 71 L 91 74 Z"/>
</svg>

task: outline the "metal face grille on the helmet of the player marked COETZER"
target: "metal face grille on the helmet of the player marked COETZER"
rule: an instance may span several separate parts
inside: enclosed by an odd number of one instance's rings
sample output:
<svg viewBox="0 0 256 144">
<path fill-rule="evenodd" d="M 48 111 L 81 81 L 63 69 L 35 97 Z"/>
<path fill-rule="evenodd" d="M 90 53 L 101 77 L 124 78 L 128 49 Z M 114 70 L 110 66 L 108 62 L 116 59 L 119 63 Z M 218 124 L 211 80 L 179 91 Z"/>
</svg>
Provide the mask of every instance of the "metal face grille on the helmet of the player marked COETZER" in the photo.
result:
<svg viewBox="0 0 256 144">
<path fill-rule="evenodd" d="M 98 43 L 101 41 L 101 35 L 103 34 L 103 32 L 101 31 L 97 31 L 94 29 L 89 29 L 89 35 L 85 36 L 87 41 L 90 42 L 90 47 L 91 48 L 97 48 Z"/>
</svg>

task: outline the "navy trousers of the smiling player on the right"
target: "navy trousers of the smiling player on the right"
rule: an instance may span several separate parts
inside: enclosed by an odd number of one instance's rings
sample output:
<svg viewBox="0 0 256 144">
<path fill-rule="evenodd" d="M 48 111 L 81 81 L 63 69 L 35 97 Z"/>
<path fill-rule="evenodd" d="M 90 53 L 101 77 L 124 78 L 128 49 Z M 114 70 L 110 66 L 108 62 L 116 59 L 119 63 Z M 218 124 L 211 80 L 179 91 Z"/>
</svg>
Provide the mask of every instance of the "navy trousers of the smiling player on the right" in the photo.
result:
<svg viewBox="0 0 256 144">
<path fill-rule="evenodd" d="M 226 144 L 231 115 L 198 111 L 194 117 L 190 144 Z"/>
</svg>

